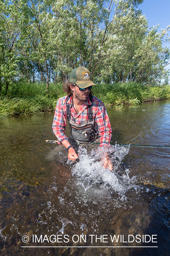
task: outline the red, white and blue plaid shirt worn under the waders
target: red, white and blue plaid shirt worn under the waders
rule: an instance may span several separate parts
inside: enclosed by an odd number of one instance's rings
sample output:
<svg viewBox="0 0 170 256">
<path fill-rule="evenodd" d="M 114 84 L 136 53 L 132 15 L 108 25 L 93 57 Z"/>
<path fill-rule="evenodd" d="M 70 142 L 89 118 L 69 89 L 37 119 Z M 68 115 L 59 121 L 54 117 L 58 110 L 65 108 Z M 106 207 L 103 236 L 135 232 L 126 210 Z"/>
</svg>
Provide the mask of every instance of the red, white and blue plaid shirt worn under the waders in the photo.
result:
<svg viewBox="0 0 170 256">
<path fill-rule="evenodd" d="M 64 96 L 57 101 L 56 110 L 54 114 L 54 121 L 52 129 L 56 137 L 58 138 L 58 144 L 62 141 L 68 140 L 65 135 L 65 127 L 67 125 L 67 114 L 66 114 L 66 100 L 68 96 Z M 68 100 L 68 104 L 71 104 L 70 112 L 76 120 L 76 124 L 88 121 L 88 105 L 91 105 L 89 97 L 82 104 L 79 113 L 75 111 L 72 104 L 73 95 Z M 93 96 L 92 104 L 93 118 L 98 125 L 98 133 L 100 137 L 100 146 L 108 146 L 111 140 L 111 124 L 107 115 L 106 108 L 101 100 Z"/>
</svg>

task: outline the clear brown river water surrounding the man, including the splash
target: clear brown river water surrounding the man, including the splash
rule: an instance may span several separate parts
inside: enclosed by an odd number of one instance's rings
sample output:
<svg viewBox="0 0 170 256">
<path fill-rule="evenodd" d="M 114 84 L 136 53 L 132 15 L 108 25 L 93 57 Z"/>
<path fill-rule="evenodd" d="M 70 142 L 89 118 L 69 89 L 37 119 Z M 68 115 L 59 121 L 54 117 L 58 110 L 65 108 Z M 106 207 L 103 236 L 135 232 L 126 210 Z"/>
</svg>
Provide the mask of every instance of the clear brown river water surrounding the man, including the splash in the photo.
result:
<svg viewBox="0 0 170 256">
<path fill-rule="evenodd" d="M 170 255 L 170 101 L 107 112 L 113 172 L 49 160 L 54 113 L 0 119 L 1 255 Z"/>
</svg>

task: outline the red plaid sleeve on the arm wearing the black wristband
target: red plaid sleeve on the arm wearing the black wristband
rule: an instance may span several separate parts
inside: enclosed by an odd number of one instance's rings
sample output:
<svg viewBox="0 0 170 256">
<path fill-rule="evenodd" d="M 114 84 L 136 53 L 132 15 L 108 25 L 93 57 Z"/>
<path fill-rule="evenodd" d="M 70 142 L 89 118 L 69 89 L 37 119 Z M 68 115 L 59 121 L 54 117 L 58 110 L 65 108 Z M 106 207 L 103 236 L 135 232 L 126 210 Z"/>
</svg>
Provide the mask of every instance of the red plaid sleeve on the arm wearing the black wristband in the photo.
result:
<svg viewBox="0 0 170 256">
<path fill-rule="evenodd" d="M 65 135 L 66 125 L 67 118 L 65 117 L 64 111 L 61 106 L 61 100 L 59 99 L 56 105 L 54 120 L 52 124 L 52 129 L 58 139 L 58 144 L 61 144 L 62 141 L 68 140 L 67 136 Z"/>
</svg>

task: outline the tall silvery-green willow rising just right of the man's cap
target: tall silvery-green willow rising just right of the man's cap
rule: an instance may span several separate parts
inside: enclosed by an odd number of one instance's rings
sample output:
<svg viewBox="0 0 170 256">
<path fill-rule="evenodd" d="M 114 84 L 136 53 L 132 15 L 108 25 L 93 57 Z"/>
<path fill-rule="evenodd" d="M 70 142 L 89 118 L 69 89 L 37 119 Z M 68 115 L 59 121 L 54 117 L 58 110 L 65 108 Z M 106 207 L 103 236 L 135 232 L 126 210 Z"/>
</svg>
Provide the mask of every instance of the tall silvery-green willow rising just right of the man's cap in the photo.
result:
<svg viewBox="0 0 170 256">
<path fill-rule="evenodd" d="M 117 25 L 118 24 L 118 25 Z M 120 30 L 115 33 L 115 25 Z M 103 49 L 103 63 L 98 80 L 105 82 L 132 81 L 137 63 L 133 59 L 146 35 L 148 23 L 141 11 L 130 8 L 126 14 L 114 17 L 114 24 Z"/>
</svg>

